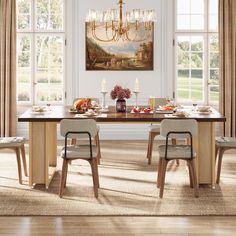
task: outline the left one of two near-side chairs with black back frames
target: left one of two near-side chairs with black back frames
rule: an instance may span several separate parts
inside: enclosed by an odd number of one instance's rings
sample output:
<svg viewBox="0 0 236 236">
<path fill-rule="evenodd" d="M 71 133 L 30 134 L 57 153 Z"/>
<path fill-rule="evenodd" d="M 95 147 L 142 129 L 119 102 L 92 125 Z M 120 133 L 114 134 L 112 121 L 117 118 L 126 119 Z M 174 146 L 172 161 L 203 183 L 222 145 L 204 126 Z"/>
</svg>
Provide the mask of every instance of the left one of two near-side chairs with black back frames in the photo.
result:
<svg viewBox="0 0 236 236">
<path fill-rule="evenodd" d="M 99 177 L 98 177 L 98 148 L 92 145 L 92 138 L 97 135 L 97 124 L 93 119 L 63 119 L 60 122 L 60 132 L 65 138 L 65 145 L 61 151 L 63 158 L 62 174 L 60 180 L 59 197 L 62 198 L 66 187 L 68 163 L 71 160 L 82 159 L 89 162 L 92 170 L 94 195 L 98 197 Z M 86 144 L 68 144 L 68 139 L 86 139 Z"/>
</svg>

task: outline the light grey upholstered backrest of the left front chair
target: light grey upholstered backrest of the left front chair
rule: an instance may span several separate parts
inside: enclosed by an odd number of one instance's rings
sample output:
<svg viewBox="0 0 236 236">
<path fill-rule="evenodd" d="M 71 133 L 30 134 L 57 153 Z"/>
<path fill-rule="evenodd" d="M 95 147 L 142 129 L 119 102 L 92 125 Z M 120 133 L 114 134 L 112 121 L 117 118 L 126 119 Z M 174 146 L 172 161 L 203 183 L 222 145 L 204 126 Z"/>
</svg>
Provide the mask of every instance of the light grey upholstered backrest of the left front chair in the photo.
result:
<svg viewBox="0 0 236 236">
<path fill-rule="evenodd" d="M 68 132 L 89 132 L 91 137 L 97 135 L 97 124 L 93 119 L 63 119 L 60 122 L 60 132 L 63 137 L 65 137 Z M 83 135 L 89 138 L 88 135 Z M 68 138 L 81 138 L 81 134 L 70 134 Z"/>
</svg>

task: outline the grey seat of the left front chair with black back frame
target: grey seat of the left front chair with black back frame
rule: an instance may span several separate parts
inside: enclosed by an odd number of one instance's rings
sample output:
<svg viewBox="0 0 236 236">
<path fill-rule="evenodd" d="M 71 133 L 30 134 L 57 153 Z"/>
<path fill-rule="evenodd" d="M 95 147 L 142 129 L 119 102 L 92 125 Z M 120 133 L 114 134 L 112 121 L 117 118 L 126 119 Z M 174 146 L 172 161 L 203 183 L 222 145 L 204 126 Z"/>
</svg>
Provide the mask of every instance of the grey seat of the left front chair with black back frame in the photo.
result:
<svg viewBox="0 0 236 236">
<path fill-rule="evenodd" d="M 97 148 L 92 146 L 92 155 L 97 157 Z M 61 151 L 61 157 L 65 158 L 65 147 Z M 66 159 L 90 159 L 89 145 L 71 145 L 67 147 Z"/>
</svg>

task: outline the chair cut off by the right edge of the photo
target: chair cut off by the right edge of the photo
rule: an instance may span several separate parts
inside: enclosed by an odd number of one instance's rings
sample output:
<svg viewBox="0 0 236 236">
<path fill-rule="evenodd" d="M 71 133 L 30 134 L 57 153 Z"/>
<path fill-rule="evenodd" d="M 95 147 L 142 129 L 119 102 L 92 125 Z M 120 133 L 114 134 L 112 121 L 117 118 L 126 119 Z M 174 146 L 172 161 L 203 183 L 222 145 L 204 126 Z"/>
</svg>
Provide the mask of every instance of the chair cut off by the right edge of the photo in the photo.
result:
<svg viewBox="0 0 236 236">
<path fill-rule="evenodd" d="M 220 172 L 223 154 L 226 150 L 236 149 L 236 138 L 233 137 L 217 137 L 216 138 L 216 160 L 218 156 L 216 183 L 220 183 Z"/>
</svg>

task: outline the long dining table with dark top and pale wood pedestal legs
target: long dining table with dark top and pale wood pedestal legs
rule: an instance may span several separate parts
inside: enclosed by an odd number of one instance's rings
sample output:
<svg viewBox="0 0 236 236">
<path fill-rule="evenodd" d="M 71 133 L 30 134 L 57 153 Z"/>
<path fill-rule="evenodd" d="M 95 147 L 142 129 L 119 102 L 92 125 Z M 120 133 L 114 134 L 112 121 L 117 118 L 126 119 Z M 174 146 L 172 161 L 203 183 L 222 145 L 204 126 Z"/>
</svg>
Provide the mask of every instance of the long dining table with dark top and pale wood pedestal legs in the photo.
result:
<svg viewBox="0 0 236 236">
<path fill-rule="evenodd" d="M 45 184 L 49 186 L 57 166 L 57 124 L 62 119 L 95 119 L 101 124 L 155 124 L 163 119 L 180 119 L 173 114 L 155 112 L 153 114 L 117 113 L 109 107 L 107 113 L 87 117 L 70 112 L 69 106 L 51 106 L 45 112 L 27 110 L 18 122 L 29 123 L 29 185 Z M 215 123 L 225 122 L 226 118 L 211 108 L 209 113 L 192 111 L 186 107 L 189 116 L 181 119 L 196 119 L 198 135 L 193 139 L 197 152 L 196 168 L 199 184 L 215 186 Z M 148 132 L 148 131 L 147 131 Z"/>
</svg>

